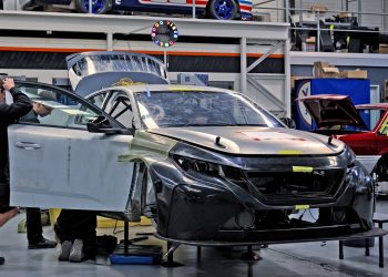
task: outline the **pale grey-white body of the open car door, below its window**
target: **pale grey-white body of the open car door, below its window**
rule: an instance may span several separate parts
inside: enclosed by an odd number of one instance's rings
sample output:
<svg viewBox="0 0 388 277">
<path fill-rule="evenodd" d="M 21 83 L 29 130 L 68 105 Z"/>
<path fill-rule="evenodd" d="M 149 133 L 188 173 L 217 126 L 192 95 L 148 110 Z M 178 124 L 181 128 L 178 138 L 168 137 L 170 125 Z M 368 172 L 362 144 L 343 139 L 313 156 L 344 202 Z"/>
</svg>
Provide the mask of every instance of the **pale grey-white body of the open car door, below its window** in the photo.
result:
<svg viewBox="0 0 388 277">
<path fill-rule="evenodd" d="M 125 209 L 132 179 L 129 135 L 16 124 L 9 127 L 11 205 Z M 38 148 L 18 147 L 34 143 Z"/>
</svg>

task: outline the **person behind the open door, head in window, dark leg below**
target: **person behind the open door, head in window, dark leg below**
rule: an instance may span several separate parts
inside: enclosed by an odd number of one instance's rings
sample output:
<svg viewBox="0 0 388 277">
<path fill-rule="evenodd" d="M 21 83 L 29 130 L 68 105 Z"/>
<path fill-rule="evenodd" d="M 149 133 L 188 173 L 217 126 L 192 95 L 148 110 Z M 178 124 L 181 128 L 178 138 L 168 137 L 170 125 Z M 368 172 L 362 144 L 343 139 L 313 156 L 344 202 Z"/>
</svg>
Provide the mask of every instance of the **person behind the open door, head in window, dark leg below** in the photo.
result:
<svg viewBox="0 0 388 277">
<path fill-rule="evenodd" d="M 44 117 L 49 115 L 52 107 L 40 102 L 34 102 L 32 110 L 20 119 L 21 122 L 40 123 L 38 115 Z M 41 211 L 40 208 L 25 208 L 27 239 L 29 249 L 53 248 L 57 242 L 43 237 Z"/>
</svg>

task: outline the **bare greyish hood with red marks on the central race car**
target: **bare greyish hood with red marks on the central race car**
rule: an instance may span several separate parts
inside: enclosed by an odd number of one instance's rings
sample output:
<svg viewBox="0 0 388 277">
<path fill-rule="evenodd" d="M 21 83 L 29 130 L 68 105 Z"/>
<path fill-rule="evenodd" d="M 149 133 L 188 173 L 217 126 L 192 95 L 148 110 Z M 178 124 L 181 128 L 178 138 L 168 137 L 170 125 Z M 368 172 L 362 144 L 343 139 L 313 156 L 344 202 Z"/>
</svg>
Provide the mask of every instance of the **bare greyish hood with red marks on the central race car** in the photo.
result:
<svg viewBox="0 0 388 277">
<path fill-rule="evenodd" d="M 331 155 L 345 144 L 309 132 L 256 126 L 201 126 L 153 129 L 147 132 L 218 152 L 242 155 Z M 219 141 L 217 143 L 217 136 Z"/>
</svg>

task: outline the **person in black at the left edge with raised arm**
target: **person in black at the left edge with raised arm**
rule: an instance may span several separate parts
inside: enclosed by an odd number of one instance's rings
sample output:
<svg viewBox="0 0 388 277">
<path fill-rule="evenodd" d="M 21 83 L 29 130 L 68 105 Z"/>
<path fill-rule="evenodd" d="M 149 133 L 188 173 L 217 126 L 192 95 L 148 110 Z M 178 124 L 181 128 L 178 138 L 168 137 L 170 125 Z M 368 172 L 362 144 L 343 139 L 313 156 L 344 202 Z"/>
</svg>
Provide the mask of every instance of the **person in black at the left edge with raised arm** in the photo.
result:
<svg viewBox="0 0 388 277">
<path fill-rule="evenodd" d="M 13 103 L 6 103 L 6 91 L 12 95 Z M 4 78 L 0 88 L 0 222 L 6 224 L 17 214 L 17 208 L 9 206 L 9 175 L 8 175 L 8 133 L 7 127 L 16 123 L 32 109 L 30 99 L 14 86 L 13 79 Z M 0 257 L 0 265 L 4 258 Z"/>
</svg>

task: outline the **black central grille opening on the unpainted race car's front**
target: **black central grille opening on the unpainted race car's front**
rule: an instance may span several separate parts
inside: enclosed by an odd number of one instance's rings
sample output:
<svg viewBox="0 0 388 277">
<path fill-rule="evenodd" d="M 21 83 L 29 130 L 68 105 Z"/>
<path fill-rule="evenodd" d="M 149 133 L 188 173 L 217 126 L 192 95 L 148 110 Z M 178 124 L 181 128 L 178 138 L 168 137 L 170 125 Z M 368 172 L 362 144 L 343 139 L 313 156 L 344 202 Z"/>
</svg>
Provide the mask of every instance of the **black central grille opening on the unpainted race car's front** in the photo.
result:
<svg viewBox="0 0 388 277">
<path fill-rule="evenodd" d="M 335 198 L 345 171 L 246 172 L 245 176 L 239 185 L 267 205 L 318 204 Z"/>
</svg>

